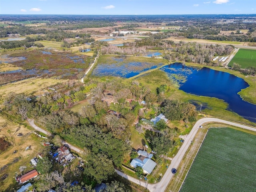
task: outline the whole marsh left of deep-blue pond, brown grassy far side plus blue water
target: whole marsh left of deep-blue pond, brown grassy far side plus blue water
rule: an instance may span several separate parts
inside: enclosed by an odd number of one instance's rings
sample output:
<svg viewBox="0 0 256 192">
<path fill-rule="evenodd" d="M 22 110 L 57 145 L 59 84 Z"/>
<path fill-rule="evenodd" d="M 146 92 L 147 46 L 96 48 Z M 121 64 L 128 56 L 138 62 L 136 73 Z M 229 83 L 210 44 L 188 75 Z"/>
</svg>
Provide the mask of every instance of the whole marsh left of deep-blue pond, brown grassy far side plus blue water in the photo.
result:
<svg viewBox="0 0 256 192">
<path fill-rule="evenodd" d="M 132 56 L 100 56 L 97 66 L 92 71 L 93 76 L 119 76 L 130 78 L 141 72 L 158 68 L 167 61 L 145 57 Z"/>
</svg>

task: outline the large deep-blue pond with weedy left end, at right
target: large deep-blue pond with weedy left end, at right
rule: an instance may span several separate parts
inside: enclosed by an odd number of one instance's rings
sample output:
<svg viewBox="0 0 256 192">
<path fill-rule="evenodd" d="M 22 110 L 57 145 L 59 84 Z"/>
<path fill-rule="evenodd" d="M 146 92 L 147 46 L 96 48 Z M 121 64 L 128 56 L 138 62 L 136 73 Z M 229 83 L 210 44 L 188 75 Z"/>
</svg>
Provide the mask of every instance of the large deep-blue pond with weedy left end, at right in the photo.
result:
<svg viewBox="0 0 256 192">
<path fill-rule="evenodd" d="M 190 94 L 222 99 L 228 103 L 228 110 L 236 112 L 252 122 L 256 122 L 256 105 L 245 102 L 237 94 L 240 90 L 249 86 L 242 78 L 210 68 L 204 67 L 196 70 L 177 63 L 173 66 L 170 65 L 170 74 L 168 76 L 175 73 L 172 67 L 177 70 L 176 74 L 179 74 L 182 70 L 190 71 L 186 81 L 180 83 L 180 90 Z M 166 67 L 165 69 L 161 68 L 161 70 L 168 71 Z"/>
</svg>

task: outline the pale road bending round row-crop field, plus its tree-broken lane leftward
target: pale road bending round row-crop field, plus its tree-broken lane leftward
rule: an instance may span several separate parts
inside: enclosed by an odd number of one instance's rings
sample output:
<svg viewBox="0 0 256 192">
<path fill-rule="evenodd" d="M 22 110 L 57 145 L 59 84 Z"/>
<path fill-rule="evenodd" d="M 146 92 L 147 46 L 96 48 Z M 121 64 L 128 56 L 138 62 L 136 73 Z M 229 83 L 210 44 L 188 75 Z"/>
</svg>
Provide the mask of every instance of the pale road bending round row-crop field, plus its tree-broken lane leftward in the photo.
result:
<svg viewBox="0 0 256 192">
<path fill-rule="evenodd" d="M 50 135 L 49 132 L 43 130 L 42 128 L 36 126 L 34 124 L 34 119 L 28 119 L 29 124 L 34 127 L 36 130 Z M 199 129 L 199 127 L 207 122 L 218 122 L 218 123 L 223 123 L 223 124 L 228 124 L 228 125 L 232 125 L 232 126 L 236 126 L 236 127 L 240 127 L 243 129 L 247 129 L 247 130 L 251 130 L 251 131 L 256 131 L 256 128 L 250 127 L 250 126 L 245 126 L 242 124 L 238 124 L 238 123 L 233 123 L 230 121 L 226 121 L 226 120 L 222 120 L 222 119 L 217 119 L 217 118 L 202 118 L 200 120 L 198 120 L 196 122 L 196 124 L 193 126 L 192 130 L 190 131 L 190 133 L 186 136 L 186 140 L 184 141 L 184 143 L 182 144 L 182 146 L 180 147 L 180 150 L 178 151 L 178 153 L 176 154 L 176 156 L 172 159 L 172 162 L 169 166 L 169 168 L 166 170 L 166 173 L 164 174 L 164 176 L 162 177 L 162 179 L 160 180 L 160 182 L 156 183 L 156 184 L 145 184 L 144 180 L 141 181 L 141 185 L 144 187 L 147 187 L 148 190 L 150 190 L 151 192 L 164 192 L 166 187 L 168 186 L 170 180 L 172 179 L 172 177 L 174 176 L 174 174 L 172 174 L 172 168 L 178 168 L 184 154 L 186 153 L 186 151 L 188 150 L 191 141 L 194 139 L 197 130 Z M 68 145 L 72 150 L 78 152 L 78 153 L 82 153 L 82 151 L 66 142 L 63 141 L 63 144 Z M 136 178 L 133 178 L 131 176 L 128 176 L 118 170 L 116 170 L 117 174 L 136 183 L 136 184 L 140 184 L 140 181 Z"/>
</svg>

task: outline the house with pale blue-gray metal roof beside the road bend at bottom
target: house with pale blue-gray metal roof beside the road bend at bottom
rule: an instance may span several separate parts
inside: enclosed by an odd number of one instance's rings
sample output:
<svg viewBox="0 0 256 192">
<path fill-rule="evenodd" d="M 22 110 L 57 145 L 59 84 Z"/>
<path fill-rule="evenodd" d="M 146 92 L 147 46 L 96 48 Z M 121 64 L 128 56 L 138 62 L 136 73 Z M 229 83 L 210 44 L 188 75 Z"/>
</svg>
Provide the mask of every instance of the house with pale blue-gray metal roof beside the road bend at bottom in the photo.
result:
<svg viewBox="0 0 256 192">
<path fill-rule="evenodd" d="M 139 156 L 137 158 L 134 158 L 132 162 L 130 163 L 130 166 L 133 168 L 136 168 L 137 166 L 142 167 L 143 172 L 145 174 L 152 173 L 153 169 L 156 166 L 156 162 L 151 160 L 150 158 L 145 158 L 144 156 Z"/>
</svg>

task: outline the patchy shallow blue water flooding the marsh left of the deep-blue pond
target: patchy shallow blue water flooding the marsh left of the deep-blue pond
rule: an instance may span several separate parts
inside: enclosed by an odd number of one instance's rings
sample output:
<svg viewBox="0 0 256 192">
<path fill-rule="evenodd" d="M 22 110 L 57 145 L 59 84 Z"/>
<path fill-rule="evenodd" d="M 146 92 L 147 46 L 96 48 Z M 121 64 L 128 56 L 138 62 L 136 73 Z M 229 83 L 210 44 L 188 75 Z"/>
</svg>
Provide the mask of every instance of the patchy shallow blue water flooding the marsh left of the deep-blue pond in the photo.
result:
<svg viewBox="0 0 256 192">
<path fill-rule="evenodd" d="M 116 58 L 112 63 L 99 63 L 92 71 L 92 75 L 130 78 L 161 65 L 148 62 L 125 62 L 122 58 Z"/>
</svg>

